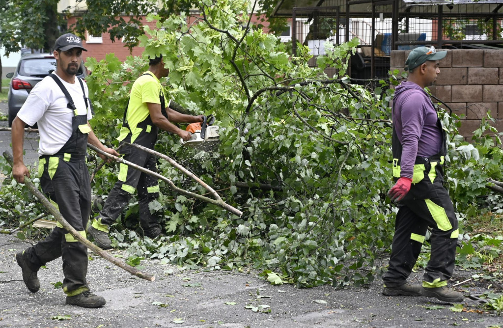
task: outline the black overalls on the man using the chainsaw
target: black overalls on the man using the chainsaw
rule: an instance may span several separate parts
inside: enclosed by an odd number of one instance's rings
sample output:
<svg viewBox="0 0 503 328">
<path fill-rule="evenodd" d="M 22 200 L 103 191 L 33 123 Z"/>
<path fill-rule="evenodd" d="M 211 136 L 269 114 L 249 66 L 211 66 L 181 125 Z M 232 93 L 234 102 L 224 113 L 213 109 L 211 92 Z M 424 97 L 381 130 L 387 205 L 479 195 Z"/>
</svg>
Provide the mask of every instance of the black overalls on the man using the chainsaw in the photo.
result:
<svg viewBox="0 0 503 328">
<path fill-rule="evenodd" d="M 143 75 L 149 75 L 145 73 Z M 159 90 L 159 101 L 162 115 L 167 118 L 165 111 L 164 95 L 162 90 Z M 129 103 L 128 103 L 129 106 Z M 125 142 L 132 143 L 132 131 L 126 120 L 127 108 L 124 112 L 123 126 L 129 129 L 129 134 L 122 140 L 119 152 L 123 154 L 123 158 L 136 165 L 157 172 L 156 157 L 138 148 L 124 144 Z M 133 140 L 134 143 L 141 146 L 153 149 L 157 141 L 159 128 L 152 123 L 150 115 L 145 120 L 138 123 L 137 129 L 141 129 L 140 134 Z M 129 203 L 131 196 L 135 190 L 138 190 L 138 206 L 140 225 L 146 234 L 158 228 L 158 215 L 151 213 L 148 204 L 159 197 L 159 183 L 157 178 L 146 173 L 129 168 L 125 164 L 120 164 L 118 181 L 112 188 L 100 215 L 93 220 L 93 227 L 98 230 L 108 232 L 110 225 L 119 217 L 124 210 L 124 207 Z"/>
</svg>

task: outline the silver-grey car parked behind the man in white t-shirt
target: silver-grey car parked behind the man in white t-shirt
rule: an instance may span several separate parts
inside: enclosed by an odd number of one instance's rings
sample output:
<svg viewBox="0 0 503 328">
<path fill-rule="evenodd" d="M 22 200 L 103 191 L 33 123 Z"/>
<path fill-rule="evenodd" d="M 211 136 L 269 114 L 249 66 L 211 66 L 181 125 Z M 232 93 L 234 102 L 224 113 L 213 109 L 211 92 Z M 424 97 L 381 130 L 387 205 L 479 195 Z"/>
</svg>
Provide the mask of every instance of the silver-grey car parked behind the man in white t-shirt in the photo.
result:
<svg viewBox="0 0 503 328">
<path fill-rule="evenodd" d="M 44 77 L 56 69 L 56 59 L 52 53 L 39 53 L 23 56 L 16 67 L 16 71 L 8 73 L 11 78 L 7 104 L 9 107 L 9 126 L 23 106 L 30 91 Z M 88 71 L 83 61 L 77 71 L 77 77 L 85 78 Z"/>
</svg>

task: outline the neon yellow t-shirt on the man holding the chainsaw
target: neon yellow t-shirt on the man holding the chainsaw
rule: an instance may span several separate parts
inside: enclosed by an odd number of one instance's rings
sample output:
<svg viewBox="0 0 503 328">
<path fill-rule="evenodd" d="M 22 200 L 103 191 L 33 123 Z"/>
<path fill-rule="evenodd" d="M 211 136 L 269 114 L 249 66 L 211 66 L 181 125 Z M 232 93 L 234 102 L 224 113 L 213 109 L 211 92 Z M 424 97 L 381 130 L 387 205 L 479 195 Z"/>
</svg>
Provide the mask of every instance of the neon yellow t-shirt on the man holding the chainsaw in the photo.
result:
<svg viewBox="0 0 503 328">
<path fill-rule="evenodd" d="M 129 96 L 129 105 L 126 112 L 126 121 L 129 124 L 133 135 L 131 140 L 136 139 L 142 129 L 137 129 L 138 123 L 142 122 L 150 114 L 147 103 L 160 104 L 159 93 L 164 96 L 164 91 L 159 79 L 151 72 L 146 71 L 146 74 L 141 75 L 134 81 Z M 165 99 L 165 97 L 164 97 Z M 166 107 L 169 105 L 166 105 Z M 119 141 L 124 140 L 129 133 L 129 129 L 125 126 L 121 127 L 120 135 L 117 138 Z"/>
</svg>

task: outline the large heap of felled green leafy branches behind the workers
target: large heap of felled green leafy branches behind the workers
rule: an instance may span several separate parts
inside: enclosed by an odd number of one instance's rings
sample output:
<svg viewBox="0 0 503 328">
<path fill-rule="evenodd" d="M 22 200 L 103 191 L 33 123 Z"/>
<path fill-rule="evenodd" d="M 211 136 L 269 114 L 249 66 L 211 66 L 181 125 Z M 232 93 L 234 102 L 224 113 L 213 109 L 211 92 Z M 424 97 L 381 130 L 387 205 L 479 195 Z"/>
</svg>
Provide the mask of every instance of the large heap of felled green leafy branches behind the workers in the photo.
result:
<svg viewBox="0 0 503 328">
<path fill-rule="evenodd" d="M 138 237 L 132 199 L 112 226 L 114 246 L 126 248 L 132 260 L 158 258 L 186 268 L 230 270 L 251 263 L 274 284 L 371 282 L 384 270 L 379 260 L 393 235 L 396 209 L 385 196 L 391 186 L 389 85 L 401 77 L 394 72 L 370 91 L 346 76 L 356 41 L 327 46 L 327 55 L 310 67 L 306 47 L 299 44 L 292 57 L 274 35 L 249 24 L 246 2 L 205 1 L 200 10 L 199 16 L 149 15 L 156 26 L 144 27 L 141 58 L 120 62 L 110 54 L 88 60 L 96 111 L 91 123 L 105 143 L 117 146 L 131 82 L 147 69 L 147 56 L 162 54 L 170 68 L 166 94 L 192 114 L 215 115 L 220 144 L 197 151 L 162 133 L 156 150 L 190 168 L 243 215 L 174 194 L 161 183 L 150 210 L 158 212 L 166 235 Z M 326 68 L 336 75 L 328 76 Z M 465 213 L 460 235 L 468 240 L 466 216 L 501 208 L 501 197 L 486 188 L 485 179 L 501 178 L 503 153 L 486 134 L 487 122 L 469 144 L 457 135 L 454 118 L 441 116 L 451 136 L 449 188 Z M 89 161 L 91 171 L 97 165 Z M 108 195 L 117 170 L 112 165 L 96 173 L 98 200 Z M 158 170 L 181 188 L 206 192 L 165 162 Z M 95 210 L 100 206 L 97 201 Z"/>
</svg>

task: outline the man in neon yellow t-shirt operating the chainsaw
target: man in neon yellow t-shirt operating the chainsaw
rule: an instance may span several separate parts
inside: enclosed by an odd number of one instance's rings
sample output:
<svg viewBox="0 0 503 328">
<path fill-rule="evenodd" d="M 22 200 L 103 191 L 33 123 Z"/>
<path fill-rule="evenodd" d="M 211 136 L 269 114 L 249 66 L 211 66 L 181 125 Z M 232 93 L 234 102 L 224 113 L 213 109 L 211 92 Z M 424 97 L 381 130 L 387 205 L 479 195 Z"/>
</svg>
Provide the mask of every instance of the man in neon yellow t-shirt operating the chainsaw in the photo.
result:
<svg viewBox="0 0 503 328">
<path fill-rule="evenodd" d="M 154 148 L 159 129 L 175 133 L 184 141 L 191 133 L 174 123 L 203 122 L 203 115 L 192 116 L 171 109 L 165 104 L 160 78 L 166 77 L 169 69 L 164 67 L 162 55 L 150 59 L 148 70 L 136 79 L 131 89 L 129 103 L 118 140 Z M 145 169 L 157 172 L 155 156 L 135 147 L 123 145 L 124 159 Z M 100 214 L 92 220 L 88 232 L 102 249 L 110 249 L 108 236 L 110 225 L 122 213 L 129 199 L 138 191 L 140 225 L 145 236 L 155 238 L 161 233 L 156 213 L 150 213 L 148 204 L 159 197 L 156 178 L 121 164 L 118 181 L 110 192 Z"/>
</svg>

